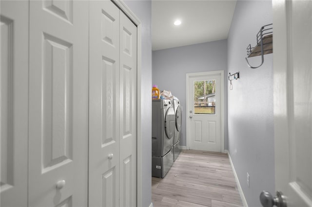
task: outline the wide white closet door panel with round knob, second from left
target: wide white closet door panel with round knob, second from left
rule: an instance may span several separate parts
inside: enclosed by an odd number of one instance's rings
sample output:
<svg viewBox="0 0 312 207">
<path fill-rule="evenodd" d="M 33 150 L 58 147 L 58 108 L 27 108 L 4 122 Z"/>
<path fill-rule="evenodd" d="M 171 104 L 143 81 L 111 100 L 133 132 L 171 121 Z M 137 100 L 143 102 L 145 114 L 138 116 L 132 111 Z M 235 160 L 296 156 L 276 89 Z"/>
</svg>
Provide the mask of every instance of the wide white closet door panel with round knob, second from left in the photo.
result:
<svg viewBox="0 0 312 207">
<path fill-rule="evenodd" d="M 88 7 L 30 1 L 29 206 L 87 206 Z"/>
</svg>

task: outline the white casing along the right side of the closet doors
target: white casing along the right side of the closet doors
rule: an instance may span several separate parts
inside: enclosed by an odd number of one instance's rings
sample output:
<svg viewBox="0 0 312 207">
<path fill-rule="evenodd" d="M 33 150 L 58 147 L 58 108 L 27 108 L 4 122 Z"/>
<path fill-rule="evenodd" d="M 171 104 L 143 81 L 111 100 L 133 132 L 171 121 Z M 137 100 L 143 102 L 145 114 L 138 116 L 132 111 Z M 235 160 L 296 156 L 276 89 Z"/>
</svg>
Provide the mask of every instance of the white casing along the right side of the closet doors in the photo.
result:
<svg viewBox="0 0 312 207">
<path fill-rule="evenodd" d="M 137 206 L 142 206 L 141 30 L 142 23 L 123 0 L 113 3 L 137 26 Z"/>
</svg>

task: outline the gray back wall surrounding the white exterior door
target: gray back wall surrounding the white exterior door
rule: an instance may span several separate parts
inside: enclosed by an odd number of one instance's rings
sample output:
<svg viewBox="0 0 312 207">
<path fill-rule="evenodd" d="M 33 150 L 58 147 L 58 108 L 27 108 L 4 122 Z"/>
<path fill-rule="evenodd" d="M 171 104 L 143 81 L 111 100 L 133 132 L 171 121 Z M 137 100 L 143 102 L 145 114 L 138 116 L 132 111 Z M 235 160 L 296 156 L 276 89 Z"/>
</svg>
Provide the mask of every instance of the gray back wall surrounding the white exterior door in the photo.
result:
<svg viewBox="0 0 312 207">
<path fill-rule="evenodd" d="M 224 70 L 224 139 L 227 149 L 227 40 L 153 51 L 153 85 L 160 90 L 171 90 L 182 105 L 180 146 L 186 146 L 186 73 L 213 70 Z"/>
</svg>

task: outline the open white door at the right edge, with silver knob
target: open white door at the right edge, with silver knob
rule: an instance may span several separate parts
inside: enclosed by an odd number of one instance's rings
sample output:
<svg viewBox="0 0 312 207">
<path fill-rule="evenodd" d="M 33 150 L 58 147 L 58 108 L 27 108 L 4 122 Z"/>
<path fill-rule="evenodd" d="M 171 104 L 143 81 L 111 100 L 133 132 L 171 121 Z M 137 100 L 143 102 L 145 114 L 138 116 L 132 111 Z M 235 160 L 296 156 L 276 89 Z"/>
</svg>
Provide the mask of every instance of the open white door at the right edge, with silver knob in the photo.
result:
<svg viewBox="0 0 312 207">
<path fill-rule="evenodd" d="M 273 0 L 273 28 L 275 190 L 311 207 L 312 1 Z"/>
</svg>

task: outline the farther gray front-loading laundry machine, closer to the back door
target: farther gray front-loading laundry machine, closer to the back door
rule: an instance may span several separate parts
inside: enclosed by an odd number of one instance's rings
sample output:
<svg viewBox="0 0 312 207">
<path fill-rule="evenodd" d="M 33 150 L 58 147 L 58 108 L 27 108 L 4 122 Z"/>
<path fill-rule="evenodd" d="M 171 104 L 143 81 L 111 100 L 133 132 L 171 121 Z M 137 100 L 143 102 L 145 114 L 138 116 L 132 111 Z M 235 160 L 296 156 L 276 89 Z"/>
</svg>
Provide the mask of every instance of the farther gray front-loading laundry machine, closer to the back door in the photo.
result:
<svg viewBox="0 0 312 207">
<path fill-rule="evenodd" d="M 175 119 L 176 119 L 175 136 L 174 136 L 172 147 L 173 147 L 173 151 L 174 151 L 174 161 L 176 161 L 176 158 L 180 154 L 179 142 L 180 142 L 180 138 L 181 138 L 182 112 L 181 112 L 181 106 L 180 106 L 179 100 L 173 99 L 172 102 L 174 104 Z"/>
</svg>

